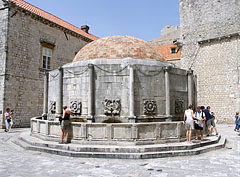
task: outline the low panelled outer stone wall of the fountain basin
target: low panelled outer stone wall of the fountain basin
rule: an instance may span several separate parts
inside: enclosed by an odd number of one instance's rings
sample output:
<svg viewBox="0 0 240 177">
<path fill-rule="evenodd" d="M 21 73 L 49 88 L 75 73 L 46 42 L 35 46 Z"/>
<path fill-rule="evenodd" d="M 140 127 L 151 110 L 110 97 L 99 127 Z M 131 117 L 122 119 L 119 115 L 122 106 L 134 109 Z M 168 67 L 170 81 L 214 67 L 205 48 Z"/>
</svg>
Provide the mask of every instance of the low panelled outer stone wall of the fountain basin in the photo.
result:
<svg viewBox="0 0 240 177">
<path fill-rule="evenodd" d="M 72 143 L 142 145 L 180 142 L 185 137 L 184 124 L 176 122 L 148 123 L 84 123 L 70 125 Z M 60 141 L 59 121 L 31 119 L 31 135 L 44 140 Z"/>
</svg>

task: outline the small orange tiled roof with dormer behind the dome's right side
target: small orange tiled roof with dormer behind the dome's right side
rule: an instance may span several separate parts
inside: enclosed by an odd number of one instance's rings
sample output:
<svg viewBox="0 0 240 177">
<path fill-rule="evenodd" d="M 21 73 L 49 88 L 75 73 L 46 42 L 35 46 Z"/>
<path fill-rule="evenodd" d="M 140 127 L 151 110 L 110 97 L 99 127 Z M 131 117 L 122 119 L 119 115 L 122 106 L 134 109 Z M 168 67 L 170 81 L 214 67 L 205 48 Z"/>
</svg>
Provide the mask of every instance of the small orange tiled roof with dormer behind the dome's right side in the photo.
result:
<svg viewBox="0 0 240 177">
<path fill-rule="evenodd" d="M 159 45 L 155 47 L 165 60 L 179 59 L 181 57 L 181 51 L 175 44 Z M 177 53 L 171 53 L 171 48 L 176 48 Z"/>
</svg>

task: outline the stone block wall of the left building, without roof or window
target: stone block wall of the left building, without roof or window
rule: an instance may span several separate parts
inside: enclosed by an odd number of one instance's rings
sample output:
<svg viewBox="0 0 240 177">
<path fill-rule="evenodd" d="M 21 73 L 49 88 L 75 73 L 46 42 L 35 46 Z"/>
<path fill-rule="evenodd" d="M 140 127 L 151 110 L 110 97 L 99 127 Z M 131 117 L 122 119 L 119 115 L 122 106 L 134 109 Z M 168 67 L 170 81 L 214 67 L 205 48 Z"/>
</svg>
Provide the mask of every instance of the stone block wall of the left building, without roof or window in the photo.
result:
<svg viewBox="0 0 240 177">
<path fill-rule="evenodd" d="M 31 117 L 42 114 L 46 70 L 41 68 L 41 42 L 54 46 L 51 69 L 71 62 L 87 42 L 14 8 L 8 16 L 4 107 L 15 110 L 15 126 L 26 127 Z"/>
</svg>

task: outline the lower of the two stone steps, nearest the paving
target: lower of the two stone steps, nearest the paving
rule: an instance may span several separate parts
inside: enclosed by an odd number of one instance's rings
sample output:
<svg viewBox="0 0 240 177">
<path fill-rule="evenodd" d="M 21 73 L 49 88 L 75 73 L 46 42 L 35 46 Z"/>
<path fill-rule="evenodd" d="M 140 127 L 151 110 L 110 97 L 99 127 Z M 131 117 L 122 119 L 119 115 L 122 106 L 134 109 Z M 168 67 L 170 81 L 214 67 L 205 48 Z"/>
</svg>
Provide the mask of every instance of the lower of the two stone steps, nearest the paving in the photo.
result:
<svg viewBox="0 0 240 177">
<path fill-rule="evenodd" d="M 226 139 L 222 137 L 216 144 L 210 144 L 203 147 L 187 150 L 159 151 L 159 152 L 141 152 L 141 153 L 112 153 L 112 152 L 76 152 L 71 150 L 54 149 L 50 147 L 33 146 L 21 139 L 14 140 L 14 143 L 26 150 L 40 151 L 62 156 L 82 157 L 82 158 L 117 158 L 117 159 L 150 159 L 175 156 L 198 155 L 212 150 L 220 149 L 225 146 Z"/>
</svg>

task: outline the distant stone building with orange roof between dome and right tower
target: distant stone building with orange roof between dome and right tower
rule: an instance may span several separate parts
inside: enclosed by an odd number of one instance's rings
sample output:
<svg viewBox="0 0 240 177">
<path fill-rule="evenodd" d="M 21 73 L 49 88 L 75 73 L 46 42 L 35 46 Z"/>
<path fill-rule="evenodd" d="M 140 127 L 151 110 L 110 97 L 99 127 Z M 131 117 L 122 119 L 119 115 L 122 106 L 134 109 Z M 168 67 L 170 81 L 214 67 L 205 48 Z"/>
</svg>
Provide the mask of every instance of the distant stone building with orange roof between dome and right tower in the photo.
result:
<svg viewBox="0 0 240 177">
<path fill-rule="evenodd" d="M 166 61 L 180 66 L 181 50 L 177 45 L 179 38 L 180 27 L 167 25 L 161 31 L 161 36 L 149 41 L 149 44 L 156 47 Z"/>
</svg>

